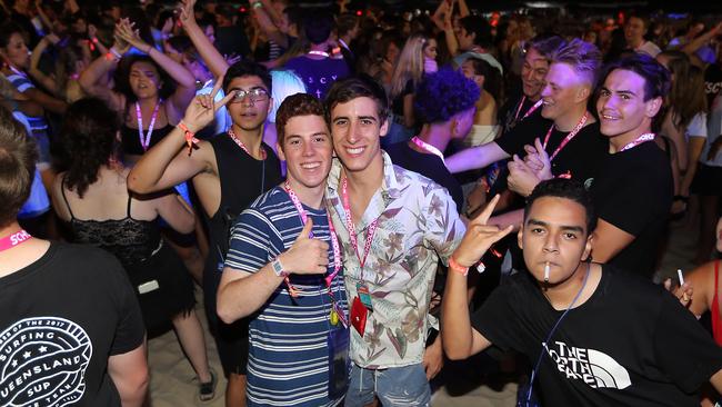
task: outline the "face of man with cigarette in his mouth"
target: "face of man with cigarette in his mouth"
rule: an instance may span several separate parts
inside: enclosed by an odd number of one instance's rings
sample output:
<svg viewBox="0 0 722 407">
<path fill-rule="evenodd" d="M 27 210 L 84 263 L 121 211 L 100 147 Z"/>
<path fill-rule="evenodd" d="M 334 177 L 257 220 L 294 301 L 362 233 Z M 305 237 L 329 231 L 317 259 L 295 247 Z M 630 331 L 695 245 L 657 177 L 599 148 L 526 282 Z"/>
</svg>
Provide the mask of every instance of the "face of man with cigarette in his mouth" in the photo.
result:
<svg viewBox="0 0 722 407">
<path fill-rule="evenodd" d="M 550 266 L 550 287 L 561 287 L 580 269 L 592 249 L 586 230 L 586 210 L 568 198 L 542 197 L 531 206 L 518 235 L 527 268 L 537 281 L 544 281 Z"/>
</svg>

